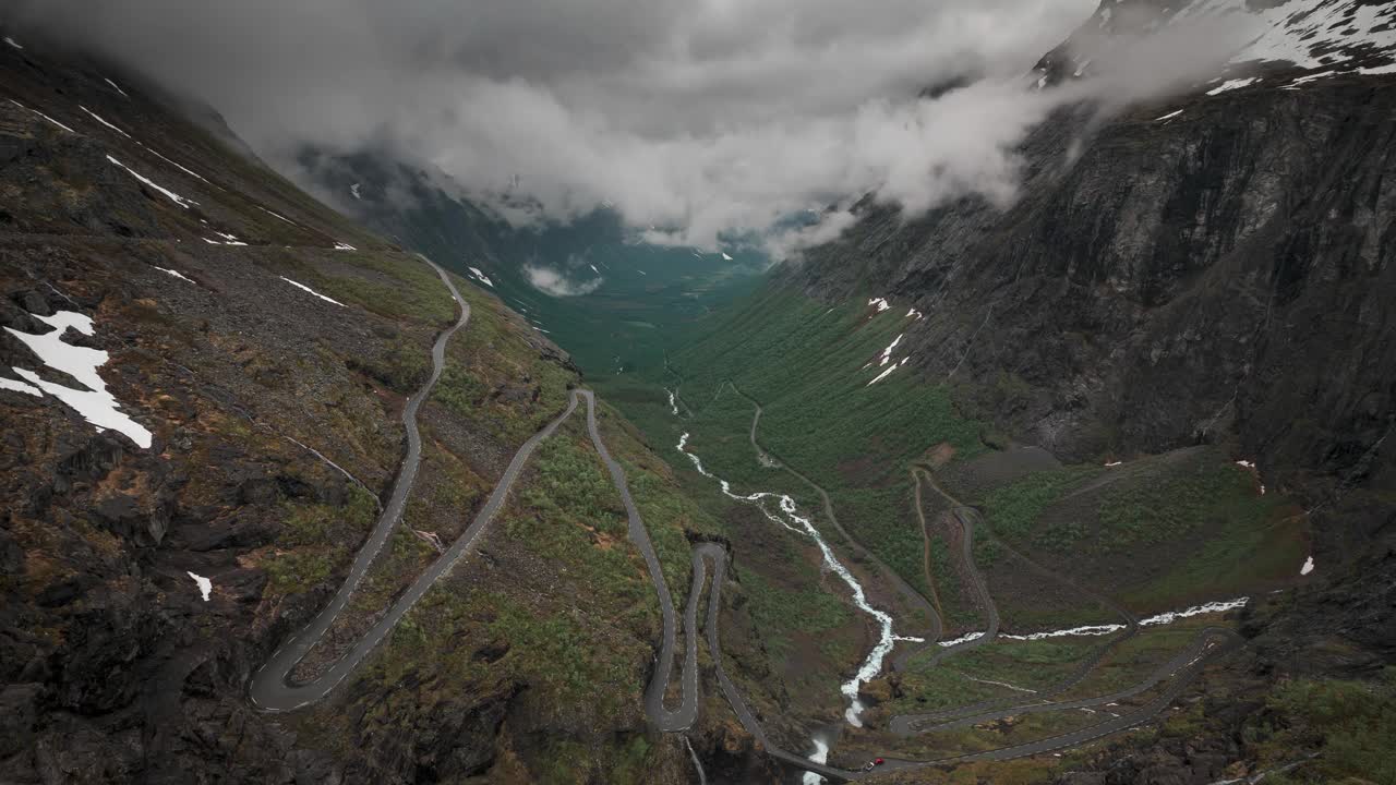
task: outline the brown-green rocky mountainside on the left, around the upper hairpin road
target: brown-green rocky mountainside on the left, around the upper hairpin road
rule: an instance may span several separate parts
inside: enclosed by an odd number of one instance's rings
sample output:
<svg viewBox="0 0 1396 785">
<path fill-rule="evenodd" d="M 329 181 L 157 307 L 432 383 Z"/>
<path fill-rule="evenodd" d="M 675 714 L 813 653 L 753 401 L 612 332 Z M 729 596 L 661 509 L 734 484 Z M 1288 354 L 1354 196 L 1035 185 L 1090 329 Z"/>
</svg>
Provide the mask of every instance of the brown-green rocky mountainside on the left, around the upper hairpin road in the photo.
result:
<svg viewBox="0 0 1396 785">
<path fill-rule="evenodd" d="M 0 779 L 694 777 L 680 739 L 648 733 L 659 605 L 575 427 L 325 703 L 253 707 L 250 676 L 325 605 L 396 483 L 402 522 L 293 677 L 436 560 L 578 372 L 454 278 L 469 323 L 416 418 L 420 468 L 396 476 L 405 402 L 458 318 L 444 279 L 140 80 L 6 32 Z M 600 420 L 683 602 L 685 536 L 720 524 Z M 773 777 L 720 722 L 692 746 L 715 772 Z"/>
</svg>

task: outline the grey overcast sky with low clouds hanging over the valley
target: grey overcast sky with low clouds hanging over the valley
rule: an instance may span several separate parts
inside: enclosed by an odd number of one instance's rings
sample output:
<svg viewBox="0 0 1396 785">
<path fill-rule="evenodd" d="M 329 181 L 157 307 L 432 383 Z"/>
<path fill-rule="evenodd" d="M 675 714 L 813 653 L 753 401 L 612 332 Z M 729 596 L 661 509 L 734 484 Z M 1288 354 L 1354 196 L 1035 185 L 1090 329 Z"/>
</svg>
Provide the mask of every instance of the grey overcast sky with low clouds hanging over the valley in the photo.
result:
<svg viewBox="0 0 1396 785">
<path fill-rule="evenodd" d="M 1097 3 L 3 4 L 212 103 L 271 161 L 388 145 L 482 200 L 518 176 L 551 218 L 610 201 L 712 244 L 868 190 L 912 211 L 1011 198 L 1011 148 L 1053 105 L 1019 77 Z M 988 78 L 916 99 L 966 75 Z"/>
</svg>

